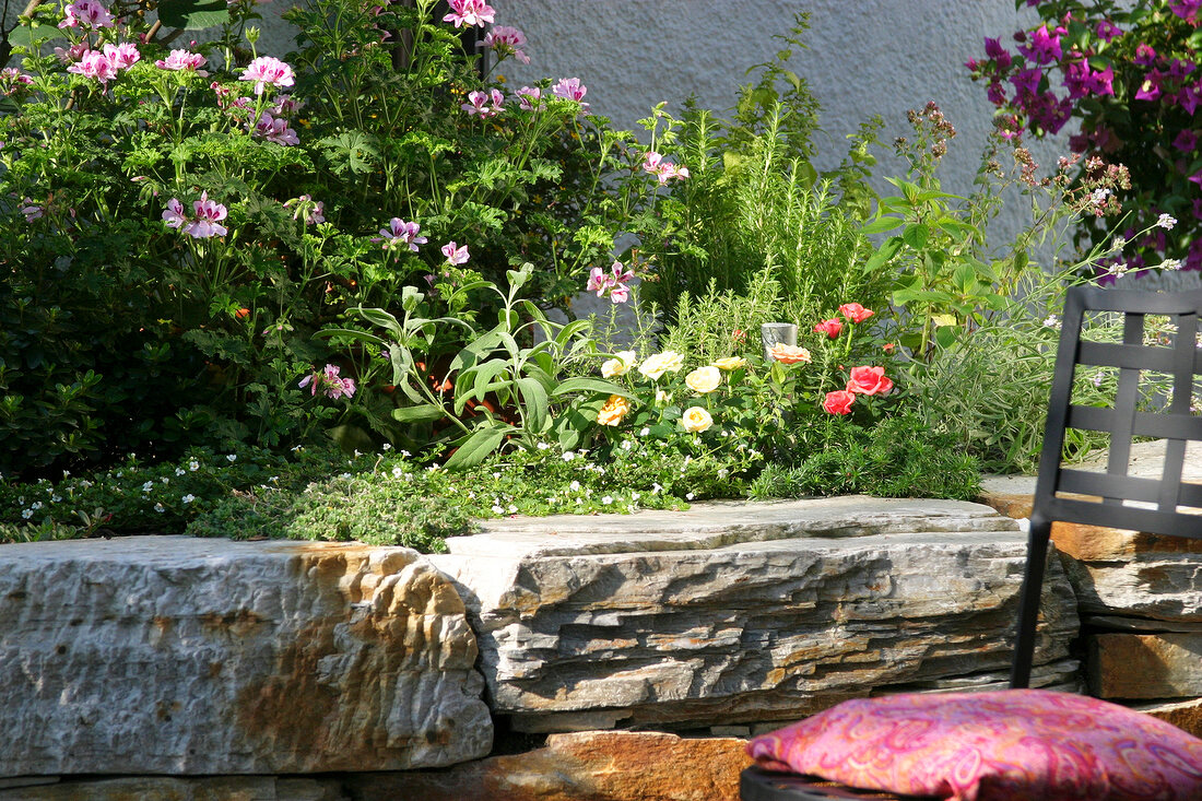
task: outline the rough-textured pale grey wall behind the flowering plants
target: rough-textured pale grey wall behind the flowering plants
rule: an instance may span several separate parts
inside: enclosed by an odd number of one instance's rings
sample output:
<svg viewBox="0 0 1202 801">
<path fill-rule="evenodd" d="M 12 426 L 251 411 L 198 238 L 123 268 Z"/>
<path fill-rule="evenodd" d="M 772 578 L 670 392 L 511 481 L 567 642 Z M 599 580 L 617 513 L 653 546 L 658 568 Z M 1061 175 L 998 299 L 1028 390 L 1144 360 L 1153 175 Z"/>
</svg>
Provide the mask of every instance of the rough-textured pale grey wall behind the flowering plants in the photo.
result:
<svg viewBox="0 0 1202 801">
<path fill-rule="evenodd" d="M 780 48 L 793 14 L 810 12 L 809 49 L 790 61 L 822 105 L 819 166 L 834 167 L 844 137 L 881 114 L 881 138 L 909 132 L 905 112 L 936 101 L 958 136 L 945 160 L 945 188 L 970 191 L 993 107 L 964 61 L 983 54 L 984 36 L 1034 20 L 1013 0 L 496 0 L 496 22 L 526 34 L 529 66 L 507 61 L 513 83 L 543 76 L 579 77 L 588 100 L 623 127 L 660 101 L 670 108 L 690 93 L 725 109 L 745 70 Z M 1025 8 L 1023 10 L 1025 12 Z M 1059 148 L 1059 149 L 1058 149 Z M 1040 147 L 1051 166 L 1064 146 Z M 877 173 L 900 166 L 888 147 Z"/>
</svg>

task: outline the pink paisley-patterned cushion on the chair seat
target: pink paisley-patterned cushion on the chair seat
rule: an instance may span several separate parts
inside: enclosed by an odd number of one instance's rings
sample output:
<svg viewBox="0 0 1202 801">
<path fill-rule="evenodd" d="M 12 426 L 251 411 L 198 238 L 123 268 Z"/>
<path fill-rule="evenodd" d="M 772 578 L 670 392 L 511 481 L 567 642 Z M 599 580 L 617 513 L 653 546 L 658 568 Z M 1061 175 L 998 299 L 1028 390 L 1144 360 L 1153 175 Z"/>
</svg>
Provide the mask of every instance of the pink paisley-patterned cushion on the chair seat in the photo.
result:
<svg viewBox="0 0 1202 801">
<path fill-rule="evenodd" d="M 748 753 L 769 770 L 953 801 L 1202 800 L 1202 740 L 1048 690 L 845 701 Z"/>
</svg>

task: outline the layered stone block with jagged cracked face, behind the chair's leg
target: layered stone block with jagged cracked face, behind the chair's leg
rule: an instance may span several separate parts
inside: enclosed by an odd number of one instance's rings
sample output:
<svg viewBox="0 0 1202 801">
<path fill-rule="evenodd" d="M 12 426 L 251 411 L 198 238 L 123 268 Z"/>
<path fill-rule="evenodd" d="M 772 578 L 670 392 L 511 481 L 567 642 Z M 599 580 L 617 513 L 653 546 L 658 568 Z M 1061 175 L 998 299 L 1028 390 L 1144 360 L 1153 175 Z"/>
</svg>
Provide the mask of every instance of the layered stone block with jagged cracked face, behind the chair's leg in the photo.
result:
<svg viewBox="0 0 1202 801">
<path fill-rule="evenodd" d="M 1027 538 L 988 506 L 844 497 L 493 521 L 452 575 L 494 712 L 524 731 L 786 720 L 1010 664 Z M 1037 676 L 1072 672 L 1045 582 Z"/>
</svg>

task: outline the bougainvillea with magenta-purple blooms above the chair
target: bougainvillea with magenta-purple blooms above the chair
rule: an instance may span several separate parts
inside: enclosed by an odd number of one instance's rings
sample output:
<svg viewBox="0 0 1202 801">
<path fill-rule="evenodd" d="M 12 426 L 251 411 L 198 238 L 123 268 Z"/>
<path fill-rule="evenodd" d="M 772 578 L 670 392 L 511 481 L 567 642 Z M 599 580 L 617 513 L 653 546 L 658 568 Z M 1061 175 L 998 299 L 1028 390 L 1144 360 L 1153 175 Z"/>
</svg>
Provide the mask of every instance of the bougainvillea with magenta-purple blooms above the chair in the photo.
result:
<svg viewBox="0 0 1202 801">
<path fill-rule="evenodd" d="M 1121 164 L 1131 176 L 1123 212 L 1099 204 L 1081 242 L 1120 237 L 1108 269 L 1180 263 L 1202 269 L 1202 4 L 1197 0 L 1017 0 L 1041 22 L 984 40 L 968 63 L 1018 140 L 1057 134 L 1071 120 L 1075 153 Z M 1117 204 L 1115 204 L 1117 206 Z M 1156 225 L 1168 215 L 1176 226 Z M 1088 248 L 1087 248 L 1088 249 Z"/>
</svg>

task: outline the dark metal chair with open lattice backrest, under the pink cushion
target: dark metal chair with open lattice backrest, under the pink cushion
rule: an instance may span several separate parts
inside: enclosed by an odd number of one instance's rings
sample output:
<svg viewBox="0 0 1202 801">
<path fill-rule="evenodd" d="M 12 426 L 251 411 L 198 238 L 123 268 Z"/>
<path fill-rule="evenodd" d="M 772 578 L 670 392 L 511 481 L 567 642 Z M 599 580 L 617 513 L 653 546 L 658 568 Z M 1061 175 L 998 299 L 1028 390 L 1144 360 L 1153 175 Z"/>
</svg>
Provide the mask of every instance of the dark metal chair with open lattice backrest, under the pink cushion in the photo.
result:
<svg viewBox="0 0 1202 801">
<path fill-rule="evenodd" d="M 1108 313 L 1121 319 L 1121 343 L 1083 340 L 1087 313 Z M 1202 440 L 1202 416 L 1191 415 L 1191 399 L 1202 349 L 1198 315 L 1202 290 L 1177 293 L 1073 287 L 1065 301 L 1052 381 L 1043 450 L 1030 517 L 1027 569 L 1018 607 L 1018 633 L 1010 687 L 1027 688 L 1035 651 L 1040 593 L 1053 521 L 1131 529 L 1149 534 L 1202 539 L 1202 485 L 1182 481 L 1185 446 Z M 1146 344 L 1148 315 L 1168 315 L 1176 333 L 1167 342 Z M 1077 366 L 1117 368 L 1118 390 L 1112 407 L 1073 405 Z M 1141 372 L 1171 378 L 1155 410 L 1139 409 Z M 1065 429 L 1107 432 L 1111 437 L 1105 473 L 1061 467 Z M 1164 471 L 1159 480 L 1127 474 L 1132 438 L 1165 441 Z M 1183 511 L 1192 508 L 1194 512 Z M 916 796 L 856 790 L 832 782 L 749 767 L 743 772 L 744 801 L 798 801 L 829 799 L 894 799 Z"/>
</svg>

